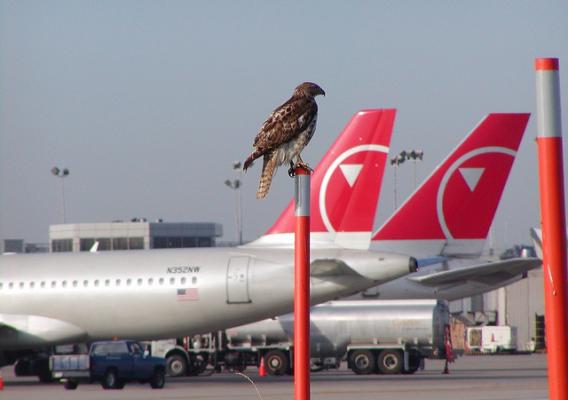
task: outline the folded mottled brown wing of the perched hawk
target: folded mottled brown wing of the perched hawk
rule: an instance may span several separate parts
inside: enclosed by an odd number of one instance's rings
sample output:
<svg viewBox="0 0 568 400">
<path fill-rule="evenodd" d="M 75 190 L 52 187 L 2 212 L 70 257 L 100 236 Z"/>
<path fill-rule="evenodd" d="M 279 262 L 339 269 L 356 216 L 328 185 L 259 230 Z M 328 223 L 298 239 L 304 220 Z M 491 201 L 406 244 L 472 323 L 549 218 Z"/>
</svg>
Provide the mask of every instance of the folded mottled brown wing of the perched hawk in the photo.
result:
<svg viewBox="0 0 568 400">
<path fill-rule="evenodd" d="M 315 100 L 292 97 L 274 110 L 262 124 L 254 139 L 254 147 L 264 154 L 292 140 L 310 125 L 317 113 Z"/>
</svg>

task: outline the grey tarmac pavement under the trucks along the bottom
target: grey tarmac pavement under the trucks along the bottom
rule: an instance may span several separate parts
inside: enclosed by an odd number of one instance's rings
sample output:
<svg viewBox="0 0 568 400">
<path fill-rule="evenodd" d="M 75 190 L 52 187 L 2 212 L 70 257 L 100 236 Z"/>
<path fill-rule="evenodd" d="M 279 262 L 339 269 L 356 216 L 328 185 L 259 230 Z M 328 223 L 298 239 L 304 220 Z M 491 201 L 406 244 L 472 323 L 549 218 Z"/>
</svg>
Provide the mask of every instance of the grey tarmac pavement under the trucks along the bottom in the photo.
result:
<svg viewBox="0 0 568 400">
<path fill-rule="evenodd" d="M 464 356 L 442 374 L 443 361 L 426 361 L 414 375 L 354 375 L 345 366 L 339 371 L 312 374 L 313 400 L 541 400 L 548 398 L 546 355 Z M 264 400 L 293 399 L 290 376 L 259 377 L 245 371 Z M 83 384 L 67 391 L 60 384 L 41 384 L 35 378 L 17 378 L 11 368 L 2 369 L 5 388 L 0 399 L 259 399 L 246 378 L 233 373 L 168 379 L 166 387 L 131 383 L 123 390 L 104 390 L 99 384 Z"/>
</svg>

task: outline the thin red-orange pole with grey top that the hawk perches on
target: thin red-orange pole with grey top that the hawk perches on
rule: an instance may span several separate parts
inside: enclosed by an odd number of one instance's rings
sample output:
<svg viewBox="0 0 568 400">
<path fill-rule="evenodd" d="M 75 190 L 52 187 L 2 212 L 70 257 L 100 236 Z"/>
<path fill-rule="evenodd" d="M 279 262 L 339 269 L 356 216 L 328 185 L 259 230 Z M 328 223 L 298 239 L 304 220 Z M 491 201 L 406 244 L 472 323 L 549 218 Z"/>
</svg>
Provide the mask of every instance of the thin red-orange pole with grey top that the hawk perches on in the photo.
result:
<svg viewBox="0 0 568 400">
<path fill-rule="evenodd" d="M 310 171 L 296 168 L 294 399 L 310 399 Z"/>
</svg>

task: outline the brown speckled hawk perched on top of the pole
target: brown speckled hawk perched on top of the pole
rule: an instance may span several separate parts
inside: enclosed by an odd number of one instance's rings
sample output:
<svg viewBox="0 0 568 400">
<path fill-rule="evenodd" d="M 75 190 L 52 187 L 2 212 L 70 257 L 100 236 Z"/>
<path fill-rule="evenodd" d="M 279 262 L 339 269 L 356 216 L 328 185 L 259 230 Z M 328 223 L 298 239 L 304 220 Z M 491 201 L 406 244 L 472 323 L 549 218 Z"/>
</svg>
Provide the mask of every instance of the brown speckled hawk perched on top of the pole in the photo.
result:
<svg viewBox="0 0 568 400">
<path fill-rule="evenodd" d="M 320 94 L 325 96 L 323 89 L 315 83 L 304 82 L 298 85 L 292 97 L 272 111 L 262 124 L 254 139 L 254 151 L 243 166 L 246 171 L 254 160 L 263 156 L 257 199 L 266 197 L 272 176 L 280 165 L 290 163 L 288 172 L 293 174 L 295 166 L 292 160 L 295 157 L 297 165 L 307 168 L 300 153 L 316 131 L 318 105 L 315 97 Z"/>
</svg>

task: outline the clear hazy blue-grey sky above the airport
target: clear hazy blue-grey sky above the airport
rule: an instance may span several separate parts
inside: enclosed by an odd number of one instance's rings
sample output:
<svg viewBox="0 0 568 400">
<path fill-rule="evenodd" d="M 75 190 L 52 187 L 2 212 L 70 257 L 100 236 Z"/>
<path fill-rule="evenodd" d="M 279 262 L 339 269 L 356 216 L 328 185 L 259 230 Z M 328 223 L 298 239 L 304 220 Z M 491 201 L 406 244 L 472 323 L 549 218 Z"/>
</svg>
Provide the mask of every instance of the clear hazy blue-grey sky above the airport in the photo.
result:
<svg viewBox="0 0 568 400">
<path fill-rule="evenodd" d="M 391 151 L 424 149 L 419 181 L 489 112 L 535 110 L 535 57 L 559 57 L 568 98 L 566 1 L 0 0 L 0 238 L 46 242 L 68 222 L 213 221 L 235 238 L 224 180 L 267 114 L 310 80 L 313 165 L 361 108 L 395 107 Z M 536 116 L 494 223 L 499 246 L 538 225 Z M 244 177 L 245 238 L 289 201 Z M 399 198 L 413 187 L 399 170 Z M 376 226 L 392 211 L 386 171 Z"/>
</svg>

